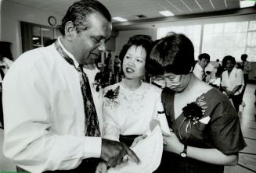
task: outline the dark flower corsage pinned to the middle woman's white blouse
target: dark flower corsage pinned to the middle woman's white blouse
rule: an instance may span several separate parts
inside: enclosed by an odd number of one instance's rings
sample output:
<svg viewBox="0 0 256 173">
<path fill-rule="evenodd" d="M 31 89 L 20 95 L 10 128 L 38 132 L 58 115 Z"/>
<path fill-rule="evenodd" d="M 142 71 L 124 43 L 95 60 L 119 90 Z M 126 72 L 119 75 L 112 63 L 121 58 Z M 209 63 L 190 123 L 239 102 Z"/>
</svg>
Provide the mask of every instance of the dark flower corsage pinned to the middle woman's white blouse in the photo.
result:
<svg viewBox="0 0 256 173">
<path fill-rule="evenodd" d="M 119 105 L 119 101 L 118 101 L 119 90 L 120 90 L 120 86 L 118 86 L 114 90 L 110 89 L 106 92 L 106 94 L 104 95 L 104 97 L 106 97 L 106 100 L 104 101 L 104 104 L 106 106 L 112 107 L 112 106 Z"/>
</svg>

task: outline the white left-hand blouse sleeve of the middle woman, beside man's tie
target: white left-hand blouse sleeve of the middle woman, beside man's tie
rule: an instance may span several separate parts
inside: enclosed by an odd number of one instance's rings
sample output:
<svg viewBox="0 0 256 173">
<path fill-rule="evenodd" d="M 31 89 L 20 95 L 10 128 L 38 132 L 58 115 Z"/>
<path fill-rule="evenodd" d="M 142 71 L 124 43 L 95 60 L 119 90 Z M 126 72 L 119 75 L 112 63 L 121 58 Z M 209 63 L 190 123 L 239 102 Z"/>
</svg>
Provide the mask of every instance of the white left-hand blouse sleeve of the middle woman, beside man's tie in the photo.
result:
<svg viewBox="0 0 256 173">
<path fill-rule="evenodd" d="M 119 141 L 120 128 L 117 124 L 115 107 L 110 99 L 104 97 L 103 100 L 103 138 Z"/>
</svg>

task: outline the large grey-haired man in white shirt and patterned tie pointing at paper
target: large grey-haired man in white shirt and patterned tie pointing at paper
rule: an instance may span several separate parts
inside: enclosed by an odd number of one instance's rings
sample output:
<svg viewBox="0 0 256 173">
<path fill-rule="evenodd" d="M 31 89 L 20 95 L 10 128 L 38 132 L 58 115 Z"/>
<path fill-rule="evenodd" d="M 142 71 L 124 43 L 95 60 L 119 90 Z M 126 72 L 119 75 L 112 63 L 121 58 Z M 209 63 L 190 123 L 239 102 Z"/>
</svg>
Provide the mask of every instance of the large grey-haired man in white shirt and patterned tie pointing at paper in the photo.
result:
<svg viewBox="0 0 256 173">
<path fill-rule="evenodd" d="M 139 162 L 124 143 L 100 137 L 102 93 L 93 83 L 94 62 L 105 51 L 111 30 L 104 5 L 74 2 L 56 43 L 25 52 L 9 69 L 3 81 L 3 151 L 21 171 L 95 172 L 92 158 L 115 167 L 126 154 Z M 89 111 L 95 115 L 88 117 Z"/>
</svg>

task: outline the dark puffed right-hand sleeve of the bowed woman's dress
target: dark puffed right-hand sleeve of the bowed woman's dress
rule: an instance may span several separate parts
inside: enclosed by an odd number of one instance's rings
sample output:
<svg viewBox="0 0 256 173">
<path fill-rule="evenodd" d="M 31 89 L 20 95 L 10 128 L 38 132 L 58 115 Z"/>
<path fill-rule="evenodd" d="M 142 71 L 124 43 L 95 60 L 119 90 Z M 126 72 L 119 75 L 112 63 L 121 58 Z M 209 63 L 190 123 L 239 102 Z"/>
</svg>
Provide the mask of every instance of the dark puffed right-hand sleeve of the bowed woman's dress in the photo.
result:
<svg viewBox="0 0 256 173">
<path fill-rule="evenodd" d="M 228 99 L 219 101 L 211 112 L 208 139 L 223 154 L 236 154 L 246 147 L 239 117 Z"/>
</svg>

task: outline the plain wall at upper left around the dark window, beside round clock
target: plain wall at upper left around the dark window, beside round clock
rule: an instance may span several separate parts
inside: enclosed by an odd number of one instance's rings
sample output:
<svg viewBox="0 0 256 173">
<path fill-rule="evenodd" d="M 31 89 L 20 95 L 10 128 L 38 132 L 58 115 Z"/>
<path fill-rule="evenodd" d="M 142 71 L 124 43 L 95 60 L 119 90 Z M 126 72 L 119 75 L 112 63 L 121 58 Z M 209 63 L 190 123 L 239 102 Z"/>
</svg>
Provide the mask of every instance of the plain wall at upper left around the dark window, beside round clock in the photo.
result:
<svg viewBox="0 0 256 173">
<path fill-rule="evenodd" d="M 50 26 L 48 23 L 49 16 L 56 16 L 57 24 L 61 22 L 63 17 L 41 9 L 33 9 L 29 6 L 3 0 L 0 16 L 2 18 L 0 20 L 0 41 L 9 41 L 13 43 L 11 51 L 14 59 L 22 54 L 20 21 Z"/>
</svg>

